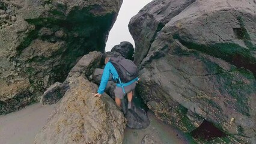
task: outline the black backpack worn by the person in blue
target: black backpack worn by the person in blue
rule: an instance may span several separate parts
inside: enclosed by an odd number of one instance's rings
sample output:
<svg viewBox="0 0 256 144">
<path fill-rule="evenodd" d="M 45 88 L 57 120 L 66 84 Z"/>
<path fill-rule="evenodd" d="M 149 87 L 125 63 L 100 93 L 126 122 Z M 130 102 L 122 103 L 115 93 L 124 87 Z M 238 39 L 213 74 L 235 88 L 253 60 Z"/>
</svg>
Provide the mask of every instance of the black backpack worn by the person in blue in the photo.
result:
<svg viewBox="0 0 256 144">
<path fill-rule="evenodd" d="M 118 56 L 117 58 L 111 57 L 109 61 L 114 65 L 115 70 L 117 70 L 118 76 L 120 77 L 122 83 L 130 82 L 138 77 L 138 67 L 130 59 L 125 59 L 123 56 Z"/>
</svg>

